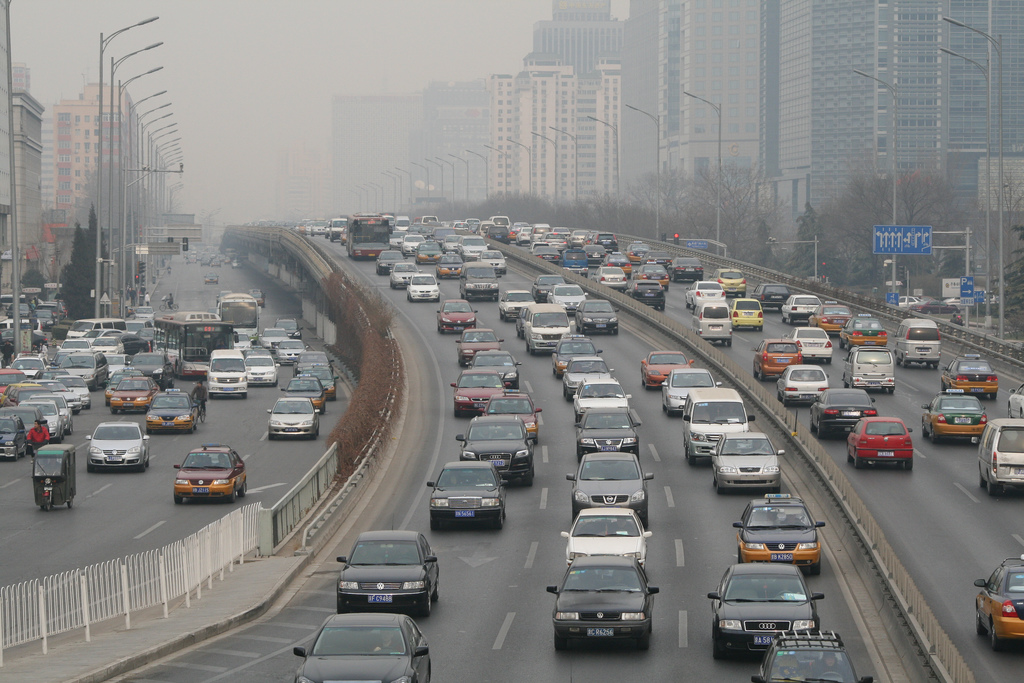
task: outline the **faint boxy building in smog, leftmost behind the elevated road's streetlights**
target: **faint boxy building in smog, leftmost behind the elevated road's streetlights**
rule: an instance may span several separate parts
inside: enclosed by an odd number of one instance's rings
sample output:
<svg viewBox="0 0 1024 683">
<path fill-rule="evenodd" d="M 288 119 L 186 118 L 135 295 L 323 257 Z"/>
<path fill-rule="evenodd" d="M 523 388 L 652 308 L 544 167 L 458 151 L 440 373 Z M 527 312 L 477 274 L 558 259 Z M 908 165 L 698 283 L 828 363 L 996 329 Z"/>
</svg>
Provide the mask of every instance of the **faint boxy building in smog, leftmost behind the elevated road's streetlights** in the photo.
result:
<svg viewBox="0 0 1024 683">
<path fill-rule="evenodd" d="M 335 96 L 333 213 L 393 209 L 385 206 L 383 173 L 396 166 L 413 171 L 414 197 L 426 196 L 423 172 L 410 166 L 410 135 L 422 120 L 419 94 Z"/>
</svg>

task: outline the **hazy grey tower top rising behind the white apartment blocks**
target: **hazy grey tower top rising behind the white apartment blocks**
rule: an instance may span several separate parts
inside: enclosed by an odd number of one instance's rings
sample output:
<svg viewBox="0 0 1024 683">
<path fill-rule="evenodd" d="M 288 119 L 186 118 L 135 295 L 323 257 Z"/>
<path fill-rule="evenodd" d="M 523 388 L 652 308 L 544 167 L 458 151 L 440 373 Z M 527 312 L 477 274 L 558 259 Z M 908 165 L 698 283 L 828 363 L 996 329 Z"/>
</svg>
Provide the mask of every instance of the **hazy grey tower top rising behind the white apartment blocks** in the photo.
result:
<svg viewBox="0 0 1024 683">
<path fill-rule="evenodd" d="M 580 75 L 622 46 L 623 24 L 611 18 L 610 0 L 553 0 L 552 18 L 534 25 L 534 52 L 557 54 Z"/>
</svg>

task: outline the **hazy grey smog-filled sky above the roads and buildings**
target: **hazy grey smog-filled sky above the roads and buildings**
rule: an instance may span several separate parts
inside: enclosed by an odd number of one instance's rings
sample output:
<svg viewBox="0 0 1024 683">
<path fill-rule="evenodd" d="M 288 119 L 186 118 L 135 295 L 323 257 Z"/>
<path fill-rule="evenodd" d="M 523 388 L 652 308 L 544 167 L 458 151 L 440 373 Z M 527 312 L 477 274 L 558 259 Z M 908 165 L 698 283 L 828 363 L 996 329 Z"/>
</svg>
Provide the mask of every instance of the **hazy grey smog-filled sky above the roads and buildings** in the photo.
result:
<svg viewBox="0 0 1024 683">
<path fill-rule="evenodd" d="M 99 34 L 160 19 L 111 41 L 118 78 L 164 69 L 128 86 L 134 99 L 171 101 L 184 151 L 176 210 L 198 219 L 271 218 L 279 152 L 330 152 L 337 94 L 415 92 L 430 81 L 514 73 L 532 48 L 534 23 L 551 0 L 13 0 L 14 61 L 47 111 L 98 80 Z M 628 0 L 612 1 L 621 20 Z M 109 76 L 104 76 L 108 79 Z M 160 116 L 154 114 L 150 119 Z M 177 137 L 171 135 L 166 139 Z M 170 184 L 170 183 L 169 183 Z"/>
</svg>

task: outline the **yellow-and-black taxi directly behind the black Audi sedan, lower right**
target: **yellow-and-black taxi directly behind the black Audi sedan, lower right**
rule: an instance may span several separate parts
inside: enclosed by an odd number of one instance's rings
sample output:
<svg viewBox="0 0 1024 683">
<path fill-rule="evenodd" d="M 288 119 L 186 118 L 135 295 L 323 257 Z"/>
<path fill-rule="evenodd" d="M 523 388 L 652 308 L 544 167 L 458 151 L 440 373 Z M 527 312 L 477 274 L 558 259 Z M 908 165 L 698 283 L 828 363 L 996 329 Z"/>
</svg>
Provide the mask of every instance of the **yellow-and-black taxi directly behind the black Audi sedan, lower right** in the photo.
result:
<svg viewBox="0 0 1024 683">
<path fill-rule="evenodd" d="M 804 502 L 790 494 L 767 494 L 746 505 L 736 527 L 738 558 L 742 562 L 796 564 L 810 574 L 821 573 L 818 528 Z"/>
</svg>

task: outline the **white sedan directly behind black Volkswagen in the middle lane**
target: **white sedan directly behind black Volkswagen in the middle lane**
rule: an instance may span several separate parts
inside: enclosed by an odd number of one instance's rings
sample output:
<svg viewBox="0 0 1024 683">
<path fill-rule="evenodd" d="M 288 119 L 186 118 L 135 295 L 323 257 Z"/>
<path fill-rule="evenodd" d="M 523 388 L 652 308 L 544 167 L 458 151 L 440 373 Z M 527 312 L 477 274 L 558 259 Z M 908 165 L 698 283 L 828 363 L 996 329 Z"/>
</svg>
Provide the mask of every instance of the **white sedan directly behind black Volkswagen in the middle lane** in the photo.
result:
<svg viewBox="0 0 1024 683">
<path fill-rule="evenodd" d="M 637 513 L 629 508 L 586 508 L 580 511 L 572 528 L 562 531 L 565 562 L 578 557 L 620 555 L 635 557 L 640 566 L 647 561 L 647 539 Z"/>
</svg>

